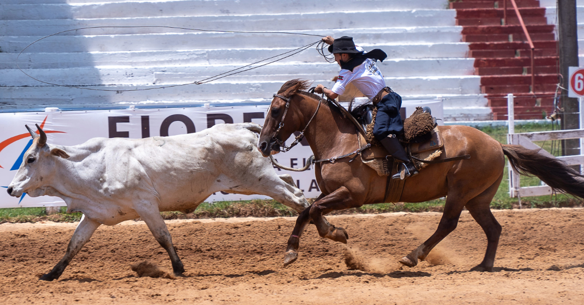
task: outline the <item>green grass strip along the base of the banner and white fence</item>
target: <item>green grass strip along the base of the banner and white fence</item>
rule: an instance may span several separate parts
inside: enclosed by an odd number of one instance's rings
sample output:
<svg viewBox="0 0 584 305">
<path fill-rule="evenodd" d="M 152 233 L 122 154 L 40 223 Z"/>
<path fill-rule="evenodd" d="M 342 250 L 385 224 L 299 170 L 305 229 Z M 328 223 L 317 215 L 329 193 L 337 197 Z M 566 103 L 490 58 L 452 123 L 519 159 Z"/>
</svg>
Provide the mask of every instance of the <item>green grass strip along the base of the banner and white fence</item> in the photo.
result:
<svg viewBox="0 0 584 305">
<path fill-rule="evenodd" d="M 507 127 L 482 127 L 481 131 L 492 136 L 500 143 L 507 143 Z M 515 132 L 533 132 L 557 130 L 558 127 L 550 124 L 524 124 L 516 125 Z M 552 155 L 561 155 L 559 141 L 535 142 Z M 510 209 L 519 206 L 517 198 L 509 198 L 509 177 L 507 166 L 503 174 L 503 181 L 491 202 L 493 209 Z M 522 187 L 540 185 L 541 180 L 537 177 L 521 176 Z M 364 205 L 360 208 L 348 209 L 345 211 L 335 211 L 331 215 L 353 214 L 353 213 L 386 213 L 386 212 L 441 212 L 445 200 L 436 199 L 418 203 L 399 204 L 372 204 Z M 551 208 L 564 206 L 580 206 L 579 199 L 568 195 L 548 195 L 540 197 L 524 197 L 522 205 L 524 208 Z M 81 219 L 81 213 L 65 213 L 65 208 L 55 215 L 47 216 L 44 208 L 11 208 L 0 209 L 0 223 L 3 222 L 34 222 L 38 220 L 52 220 L 56 222 L 74 222 Z M 298 214 L 273 200 L 251 200 L 251 201 L 217 201 L 203 202 L 193 213 L 182 212 L 162 212 L 164 219 L 187 219 L 187 218 L 228 218 L 228 217 L 282 217 L 297 216 Z"/>
</svg>

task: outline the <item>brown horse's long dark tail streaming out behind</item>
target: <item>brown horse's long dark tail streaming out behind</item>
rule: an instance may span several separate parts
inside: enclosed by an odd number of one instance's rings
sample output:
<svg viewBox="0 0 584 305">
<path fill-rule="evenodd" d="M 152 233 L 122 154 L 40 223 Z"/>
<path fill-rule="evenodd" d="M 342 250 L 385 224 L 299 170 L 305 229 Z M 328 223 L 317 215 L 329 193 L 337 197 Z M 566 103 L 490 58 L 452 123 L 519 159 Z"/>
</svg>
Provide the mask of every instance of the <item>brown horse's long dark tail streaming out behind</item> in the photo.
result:
<svg viewBox="0 0 584 305">
<path fill-rule="evenodd" d="M 539 149 L 527 149 L 521 145 L 502 145 L 516 173 L 536 176 L 552 190 L 584 198 L 584 176 L 562 160 L 539 153 Z"/>
</svg>

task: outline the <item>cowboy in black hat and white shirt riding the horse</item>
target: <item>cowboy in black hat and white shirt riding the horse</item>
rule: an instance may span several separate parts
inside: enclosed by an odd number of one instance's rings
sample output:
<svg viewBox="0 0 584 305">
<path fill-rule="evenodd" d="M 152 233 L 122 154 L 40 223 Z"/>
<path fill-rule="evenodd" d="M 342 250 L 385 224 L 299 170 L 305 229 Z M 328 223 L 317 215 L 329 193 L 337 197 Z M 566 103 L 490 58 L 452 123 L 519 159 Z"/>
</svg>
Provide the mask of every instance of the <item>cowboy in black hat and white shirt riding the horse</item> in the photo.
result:
<svg viewBox="0 0 584 305">
<path fill-rule="evenodd" d="M 392 179 L 404 178 L 418 174 L 416 167 L 409 159 L 404 147 L 399 143 L 398 135 L 404 133 L 404 123 L 399 115 L 401 96 L 385 86 L 385 80 L 375 62 L 387 57 L 380 49 L 364 52 L 353 43 L 353 37 L 343 36 L 333 39 L 331 36 L 322 38 L 329 44 L 328 51 L 335 56 L 340 66 L 339 77 L 332 89 L 319 84 L 315 93 L 324 93 L 331 99 L 336 99 L 345 92 L 345 87 L 353 83 L 365 96 L 377 106 L 377 117 L 373 128 L 373 135 L 383 145 L 395 160 L 400 163 L 398 173 Z"/>
</svg>

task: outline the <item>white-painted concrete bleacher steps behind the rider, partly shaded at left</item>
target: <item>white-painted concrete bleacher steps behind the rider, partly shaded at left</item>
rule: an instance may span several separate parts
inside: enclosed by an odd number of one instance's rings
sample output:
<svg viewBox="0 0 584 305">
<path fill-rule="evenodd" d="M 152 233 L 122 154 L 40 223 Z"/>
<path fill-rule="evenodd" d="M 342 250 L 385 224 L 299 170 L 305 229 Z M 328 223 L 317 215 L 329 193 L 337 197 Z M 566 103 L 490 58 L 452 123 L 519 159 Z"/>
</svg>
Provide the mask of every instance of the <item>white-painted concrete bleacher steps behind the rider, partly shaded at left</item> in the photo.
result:
<svg viewBox="0 0 584 305">
<path fill-rule="evenodd" d="M 326 12 L 323 12 L 326 11 Z M 444 0 L 4 0 L 0 10 L 0 110 L 127 104 L 242 103 L 271 100 L 293 78 L 331 87 L 339 67 L 314 48 L 205 85 L 191 83 L 310 44 L 319 38 L 189 29 L 349 35 L 388 54 L 381 71 L 404 99 L 444 99 L 446 120 L 489 120 L 475 59 L 468 58 L 456 11 Z M 115 27 L 114 27 L 115 26 Z M 152 27 L 133 27 L 152 26 Z"/>
</svg>

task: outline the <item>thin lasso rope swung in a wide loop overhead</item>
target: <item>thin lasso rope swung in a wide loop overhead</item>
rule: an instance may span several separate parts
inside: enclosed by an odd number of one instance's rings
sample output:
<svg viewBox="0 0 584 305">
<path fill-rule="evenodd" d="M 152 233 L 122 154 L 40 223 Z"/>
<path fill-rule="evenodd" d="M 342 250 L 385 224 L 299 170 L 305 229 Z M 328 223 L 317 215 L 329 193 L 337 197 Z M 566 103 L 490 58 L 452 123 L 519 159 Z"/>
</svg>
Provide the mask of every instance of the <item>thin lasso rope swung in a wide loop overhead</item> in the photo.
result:
<svg viewBox="0 0 584 305">
<path fill-rule="evenodd" d="M 304 36 L 325 37 L 325 36 L 316 35 L 316 34 L 291 33 L 291 32 L 283 32 L 283 31 L 220 31 L 220 30 L 189 29 L 189 28 L 186 28 L 186 27 L 173 27 L 173 26 L 93 26 L 93 27 L 80 27 L 78 29 L 60 31 L 58 33 L 54 33 L 54 34 L 51 34 L 51 35 L 48 35 L 48 36 L 45 36 L 45 37 L 42 37 L 42 38 L 39 38 L 39 39 L 33 41 L 33 43 L 27 45 L 25 48 L 22 49 L 22 51 L 20 51 L 18 53 L 18 56 L 16 56 L 16 66 L 18 66 L 18 69 L 20 70 L 20 72 L 25 73 L 25 75 L 26 76 L 29 76 L 29 78 L 32 78 L 34 80 L 37 80 L 37 81 L 39 81 L 41 83 L 46 83 L 47 85 L 61 86 L 61 87 L 70 87 L 70 88 L 78 88 L 78 89 L 85 89 L 85 90 L 124 92 L 124 91 L 142 91 L 142 90 L 162 89 L 162 88 L 178 87 L 178 86 L 186 86 L 186 85 L 202 85 L 204 83 L 213 82 L 213 80 L 225 78 L 227 76 L 231 76 L 231 75 L 234 75 L 234 74 L 237 74 L 237 73 L 241 73 L 241 72 L 249 71 L 249 70 L 252 70 L 252 69 L 256 69 L 256 68 L 259 68 L 261 66 L 265 66 L 265 65 L 272 64 L 272 63 L 274 63 L 276 61 L 281 61 L 284 58 L 291 57 L 291 56 L 296 55 L 296 54 L 298 54 L 298 53 L 300 53 L 300 52 L 302 52 L 304 50 L 307 50 L 308 48 L 312 47 L 313 45 L 317 45 L 318 54 L 321 54 L 323 57 L 325 57 L 326 61 L 331 62 L 331 61 L 329 61 L 330 55 L 325 55 L 324 54 L 324 48 L 326 47 L 326 44 L 324 43 L 324 41 L 318 40 L 318 41 L 315 41 L 314 43 L 310 43 L 310 44 L 304 45 L 303 47 L 296 48 L 296 49 L 291 50 L 291 51 L 283 52 L 283 53 L 278 54 L 276 56 L 273 56 L 273 57 L 270 57 L 270 58 L 266 58 L 266 59 L 262 59 L 260 61 L 253 62 L 252 64 L 245 65 L 245 66 L 241 66 L 241 67 L 239 67 L 237 69 L 232 69 L 230 71 L 227 71 L 227 72 L 224 72 L 224 73 L 215 75 L 215 76 L 211 76 L 210 78 L 197 80 L 197 81 L 192 82 L 192 83 L 183 83 L 183 84 L 180 84 L 180 85 L 161 86 L 161 87 L 152 87 L 152 88 L 144 88 L 144 89 L 126 89 L 126 90 L 95 89 L 95 88 L 88 88 L 88 87 L 61 85 L 61 84 L 58 84 L 58 83 L 49 83 L 49 82 L 45 82 L 44 80 L 40 80 L 40 79 L 37 79 L 37 78 L 33 78 L 33 76 L 30 76 L 25 71 L 23 71 L 22 68 L 20 68 L 20 65 L 18 64 L 18 58 L 20 57 L 20 54 L 22 54 L 22 52 L 24 52 L 28 47 L 30 47 L 34 43 L 37 43 L 38 41 L 43 40 L 44 38 L 48 38 L 48 37 L 51 37 L 51 36 L 55 36 L 55 35 L 58 35 L 58 34 L 61 34 L 61 33 L 65 33 L 65 32 L 68 32 L 68 31 L 77 31 L 77 30 L 85 30 L 85 29 L 103 29 L 103 28 L 135 28 L 135 27 L 164 27 L 166 29 L 181 29 L 181 30 L 193 30 L 193 31 L 209 31 L 209 32 L 219 32 L 219 33 L 269 33 L 269 34 L 292 34 L 292 35 L 304 35 Z M 288 53 L 290 53 L 290 54 L 288 54 Z M 277 57 L 280 57 L 280 56 L 286 55 L 286 54 L 288 54 L 288 55 L 285 56 L 285 57 L 282 57 L 282 58 L 279 58 L 279 59 L 275 59 L 275 60 L 270 61 L 270 62 L 266 62 L 265 64 L 262 64 L 262 65 L 254 66 L 252 68 L 244 69 L 244 68 L 247 68 L 248 66 L 252 66 L 252 65 L 255 65 L 255 64 L 259 64 L 260 62 L 264 62 L 264 61 L 267 61 L 269 59 L 277 58 Z M 244 69 L 244 70 L 238 71 L 240 69 Z"/>
</svg>

